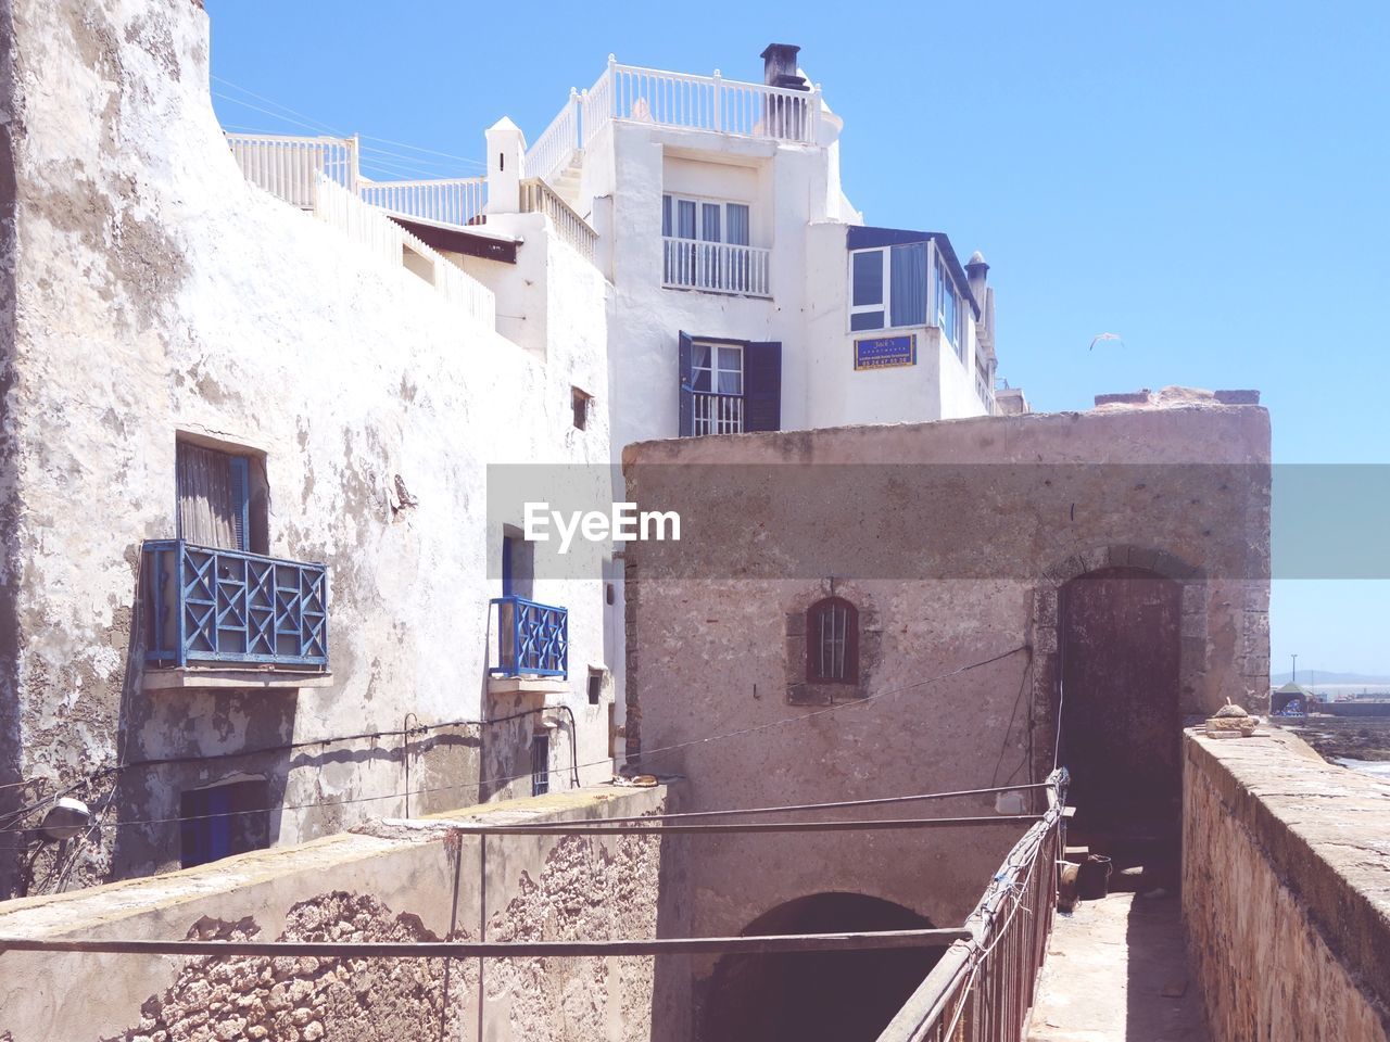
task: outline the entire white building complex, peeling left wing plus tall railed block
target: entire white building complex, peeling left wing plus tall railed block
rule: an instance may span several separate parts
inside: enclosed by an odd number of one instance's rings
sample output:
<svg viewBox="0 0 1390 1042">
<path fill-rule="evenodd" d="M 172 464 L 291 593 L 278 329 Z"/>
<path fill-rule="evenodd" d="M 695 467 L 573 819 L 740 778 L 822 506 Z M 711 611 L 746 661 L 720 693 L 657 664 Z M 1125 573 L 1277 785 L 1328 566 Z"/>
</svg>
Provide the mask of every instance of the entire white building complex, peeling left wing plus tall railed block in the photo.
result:
<svg viewBox="0 0 1390 1042">
<path fill-rule="evenodd" d="M 635 440 L 995 411 L 987 265 L 863 224 L 795 47 L 763 83 L 610 58 L 485 178 L 375 182 L 354 139 L 220 135 L 200 11 L 195 75 L 143 32 L 114 114 L 46 24 L 13 89 L 0 813 L 103 817 L 3 889 L 606 778 L 621 553 L 527 540 L 524 500 L 621 499 Z"/>
</svg>

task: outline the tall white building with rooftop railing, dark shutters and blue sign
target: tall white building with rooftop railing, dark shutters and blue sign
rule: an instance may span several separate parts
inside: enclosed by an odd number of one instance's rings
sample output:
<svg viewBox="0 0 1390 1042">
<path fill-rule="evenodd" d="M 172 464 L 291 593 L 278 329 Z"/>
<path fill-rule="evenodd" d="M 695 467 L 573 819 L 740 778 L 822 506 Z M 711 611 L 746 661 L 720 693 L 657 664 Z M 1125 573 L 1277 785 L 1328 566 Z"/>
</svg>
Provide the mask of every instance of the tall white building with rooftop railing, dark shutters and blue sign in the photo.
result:
<svg viewBox="0 0 1390 1042">
<path fill-rule="evenodd" d="M 556 329 L 603 339 L 606 400 L 573 393 L 606 414 L 614 464 L 653 438 L 1026 410 L 994 397 L 984 258 L 962 265 L 941 232 L 865 224 L 841 186 L 842 122 L 798 50 L 769 46 L 762 83 L 610 56 L 530 147 L 507 118 L 489 128 L 484 178 L 338 176 L 492 289 L 502 335 L 541 357 Z M 602 272 L 603 329 L 555 308 L 548 288 L 571 272 L 530 245 L 541 236 Z M 620 550 L 606 575 L 595 668 L 614 675 L 621 720 Z"/>
</svg>

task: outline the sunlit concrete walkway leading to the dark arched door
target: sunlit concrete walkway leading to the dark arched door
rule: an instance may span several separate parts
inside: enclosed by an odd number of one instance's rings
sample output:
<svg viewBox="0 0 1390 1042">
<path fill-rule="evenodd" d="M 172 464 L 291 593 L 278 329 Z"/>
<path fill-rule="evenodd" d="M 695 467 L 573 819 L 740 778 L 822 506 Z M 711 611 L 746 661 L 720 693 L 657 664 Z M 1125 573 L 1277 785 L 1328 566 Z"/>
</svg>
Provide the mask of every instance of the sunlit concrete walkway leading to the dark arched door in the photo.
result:
<svg viewBox="0 0 1390 1042">
<path fill-rule="evenodd" d="M 1030 1042 L 1207 1042 L 1176 895 L 1112 893 L 1058 916 Z"/>
</svg>

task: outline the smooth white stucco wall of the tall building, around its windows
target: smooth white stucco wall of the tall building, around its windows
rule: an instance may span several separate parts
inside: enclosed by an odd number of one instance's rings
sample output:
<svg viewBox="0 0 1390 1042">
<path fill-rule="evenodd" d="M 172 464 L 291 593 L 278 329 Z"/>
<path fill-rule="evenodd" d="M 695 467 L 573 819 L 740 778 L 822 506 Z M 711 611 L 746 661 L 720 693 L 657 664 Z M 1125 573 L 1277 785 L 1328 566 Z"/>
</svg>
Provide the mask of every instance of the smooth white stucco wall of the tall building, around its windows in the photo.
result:
<svg viewBox="0 0 1390 1042">
<path fill-rule="evenodd" d="M 799 146 L 623 121 L 588 143 L 580 208 L 612 221 L 614 453 L 677 435 L 680 331 L 780 340 L 783 429 L 983 413 L 973 328 L 965 365 L 923 328 L 917 365 L 853 370 L 845 233 L 863 221 L 841 189 L 838 117 L 826 110 L 820 146 Z M 663 288 L 663 193 L 749 203 L 751 245 L 773 251 L 771 299 Z"/>
</svg>

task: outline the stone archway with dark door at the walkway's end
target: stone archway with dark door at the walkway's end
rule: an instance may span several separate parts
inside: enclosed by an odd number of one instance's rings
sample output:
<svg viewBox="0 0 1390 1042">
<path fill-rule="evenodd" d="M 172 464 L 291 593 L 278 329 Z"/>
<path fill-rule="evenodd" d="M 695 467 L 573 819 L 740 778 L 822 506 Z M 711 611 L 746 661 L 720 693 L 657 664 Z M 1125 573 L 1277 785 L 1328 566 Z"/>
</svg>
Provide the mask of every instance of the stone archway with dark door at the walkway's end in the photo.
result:
<svg viewBox="0 0 1390 1042">
<path fill-rule="evenodd" d="M 1056 757 L 1072 772 L 1073 842 L 1173 885 L 1182 724 L 1207 699 L 1205 579 L 1172 554 L 1106 547 L 1049 572 L 1034 607 L 1036 768 Z"/>
</svg>

